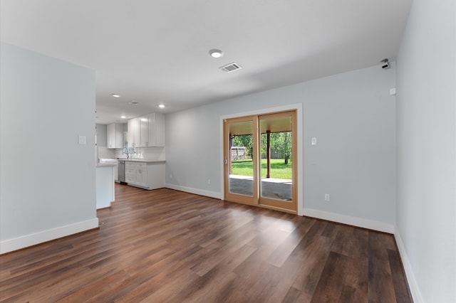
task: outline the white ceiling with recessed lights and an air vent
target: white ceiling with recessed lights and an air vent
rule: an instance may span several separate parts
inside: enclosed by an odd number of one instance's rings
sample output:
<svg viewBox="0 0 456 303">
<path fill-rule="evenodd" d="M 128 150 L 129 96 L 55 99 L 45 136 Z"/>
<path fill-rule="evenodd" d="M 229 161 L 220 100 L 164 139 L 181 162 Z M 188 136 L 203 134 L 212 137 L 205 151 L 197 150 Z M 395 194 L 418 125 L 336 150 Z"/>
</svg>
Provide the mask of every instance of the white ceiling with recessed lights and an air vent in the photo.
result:
<svg viewBox="0 0 456 303">
<path fill-rule="evenodd" d="M 96 122 L 108 124 L 394 60 L 410 4 L 1 0 L 1 41 L 96 70 Z M 219 70 L 233 62 L 242 69 Z"/>
</svg>

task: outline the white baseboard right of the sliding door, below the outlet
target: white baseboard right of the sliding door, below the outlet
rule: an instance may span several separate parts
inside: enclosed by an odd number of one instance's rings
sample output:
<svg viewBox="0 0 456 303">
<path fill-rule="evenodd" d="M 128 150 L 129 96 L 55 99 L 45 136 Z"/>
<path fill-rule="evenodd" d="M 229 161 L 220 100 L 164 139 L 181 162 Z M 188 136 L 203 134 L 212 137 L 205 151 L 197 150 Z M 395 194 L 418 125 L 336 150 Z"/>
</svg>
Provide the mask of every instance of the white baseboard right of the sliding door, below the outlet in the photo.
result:
<svg viewBox="0 0 456 303">
<path fill-rule="evenodd" d="M 304 216 L 314 217 L 323 220 L 353 225 L 371 230 L 378 230 L 383 233 L 394 233 L 394 225 L 375 220 L 368 220 L 359 217 L 345 216 L 339 213 L 328 213 L 326 211 L 318 211 L 312 208 L 304 208 Z"/>
</svg>

